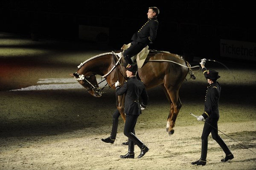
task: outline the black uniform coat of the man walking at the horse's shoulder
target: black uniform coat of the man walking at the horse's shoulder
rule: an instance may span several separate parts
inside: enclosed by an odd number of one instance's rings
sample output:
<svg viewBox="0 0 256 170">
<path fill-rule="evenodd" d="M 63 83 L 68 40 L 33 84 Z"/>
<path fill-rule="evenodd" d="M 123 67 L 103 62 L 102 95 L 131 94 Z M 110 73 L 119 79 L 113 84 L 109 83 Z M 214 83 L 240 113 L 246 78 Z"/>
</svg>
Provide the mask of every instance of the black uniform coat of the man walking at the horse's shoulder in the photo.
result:
<svg viewBox="0 0 256 170">
<path fill-rule="evenodd" d="M 139 98 L 143 101 L 143 105 L 148 104 L 148 93 L 142 81 L 138 80 L 136 76 L 131 77 L 128 81 L 120 87 L 116 87 L 116 94 L 125 94 L 125 114 L 127 115 L 140 115 Z"/>
</svg>

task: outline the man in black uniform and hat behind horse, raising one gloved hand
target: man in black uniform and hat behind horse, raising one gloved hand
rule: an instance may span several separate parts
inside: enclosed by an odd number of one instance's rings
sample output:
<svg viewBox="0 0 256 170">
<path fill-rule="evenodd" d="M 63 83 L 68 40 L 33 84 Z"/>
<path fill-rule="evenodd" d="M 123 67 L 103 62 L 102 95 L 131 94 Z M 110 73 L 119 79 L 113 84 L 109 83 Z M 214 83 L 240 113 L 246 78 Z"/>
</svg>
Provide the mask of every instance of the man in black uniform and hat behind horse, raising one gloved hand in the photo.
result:
<svg viewBox="0 0 256 170">
<path fill-rule="evenodd" d="M 198 121 L 204 121 L 204 129 L 201 136 L 202 148 L 201 148 L 201 158 L 198 161 L 191 162 L 194 165 L 205 165 L 207 157 L 207 147 L 208 147 L 208 136 L 212 133 L 212 138 L 221 146 L 222 150 L 226 154 L 224 159 L 221 161 L 226 162 L 230 159 L 233 159 L 234 156 L 230 152 L 229 148 L 218 135 L 218 119 L 219 119 L 219 110 L 218 110 L 218 101 L 221 94 L 221 85 L 218 83 L 217 79 L 220 78 L 218 72 L 215 70 L 207 70 L 204 67 L 206 59 L 201 60 L 201 67 L 204 73 L 209 86 L 207 86 L 207 92 L 205 96 L 204 103 L 204 113 L 198 116 Z"/>
</svg>

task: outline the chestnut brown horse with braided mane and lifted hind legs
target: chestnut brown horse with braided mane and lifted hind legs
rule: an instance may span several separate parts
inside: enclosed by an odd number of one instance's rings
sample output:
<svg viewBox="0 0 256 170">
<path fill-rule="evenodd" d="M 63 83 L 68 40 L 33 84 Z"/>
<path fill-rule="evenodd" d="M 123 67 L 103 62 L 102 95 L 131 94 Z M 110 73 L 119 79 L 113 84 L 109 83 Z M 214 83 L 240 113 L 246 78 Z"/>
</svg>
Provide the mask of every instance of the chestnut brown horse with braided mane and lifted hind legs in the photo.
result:
<svg viewBox="0 0 256 170">
<path fill-rule="evenodd" d="M 113 89 L 116 89 L 114 84 L 117 80 L 122 86 L 122 83 L 128 79 L 125 74 L 125 66 L 122 64 L 124 59 L 121 59 L 121 56 L 122 52 L 116 53 L 113 51 L 96 55 L 81 63 L 78 66 L 79 69 L 77 72 L 70 75 L 76 78 L 79 84 L 84 86 L 90 95 L 100 97 L 103 92 L 96 80 L 96 75 L 105 78 L 109 88 Z M 186 79 L 188 73 L 192 79 L 195 79 L 191 68 L 189 62 L 185 61 L 180 55 L 150 50 L 145 63 L 137 72 L 146 89 L 151 89 L 159 85 L 163 88 L 170 104 L 166 124 L 166 131 L 169 135 L 174 133 L 173 127 L 175 126 L 177 115 L 182 106 L 179 97 L 180 86 Z M 124 95 L 117 96 L 116 108 L 119 110 L 125 122 L 124 100 Z"/>
</svg>

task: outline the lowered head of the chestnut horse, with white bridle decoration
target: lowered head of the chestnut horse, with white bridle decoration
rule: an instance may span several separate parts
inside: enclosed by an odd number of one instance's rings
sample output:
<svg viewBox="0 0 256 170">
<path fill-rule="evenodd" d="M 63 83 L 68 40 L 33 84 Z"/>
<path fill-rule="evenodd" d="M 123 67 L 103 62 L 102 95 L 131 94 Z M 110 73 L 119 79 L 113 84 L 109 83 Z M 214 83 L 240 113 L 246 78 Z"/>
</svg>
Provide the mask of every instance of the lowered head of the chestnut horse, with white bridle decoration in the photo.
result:
<svg viewBox="0 0 256 170">
<path fill-rule="evenodd" d="M 97 83 L 96 76 L 92 72 L 88 72 L 85 75 L 79 75 L 79 73 L 73 73 L 76 80 L 84 86 L 85 89 L 94 97 L 101 97 L 102 92 Z"/>
</svg>

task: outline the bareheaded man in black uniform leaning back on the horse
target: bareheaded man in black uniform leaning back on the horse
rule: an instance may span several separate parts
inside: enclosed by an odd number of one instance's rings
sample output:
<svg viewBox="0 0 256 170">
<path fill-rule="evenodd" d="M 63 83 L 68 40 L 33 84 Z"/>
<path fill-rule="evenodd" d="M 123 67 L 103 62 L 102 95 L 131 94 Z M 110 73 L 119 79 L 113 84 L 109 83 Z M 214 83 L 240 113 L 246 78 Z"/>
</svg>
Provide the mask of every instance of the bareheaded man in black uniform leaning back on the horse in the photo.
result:
<svg viewBox="0 0 256 170">
<path fill-rule="evenodd" d="M 148 8 L 148 21 L 140 28 L 138 32 L 134 33 L 134 35 L 131 37 L 131 46 L 123 53 L 127 63 L 132 64 L 131 57 L 139 53 L 148 44 L 153 43 L 157 37 L 158 14 L 159 9 L 157 7 Z"/>
</svg>

